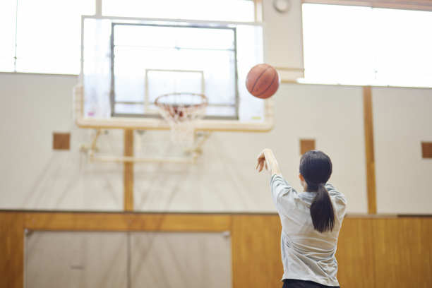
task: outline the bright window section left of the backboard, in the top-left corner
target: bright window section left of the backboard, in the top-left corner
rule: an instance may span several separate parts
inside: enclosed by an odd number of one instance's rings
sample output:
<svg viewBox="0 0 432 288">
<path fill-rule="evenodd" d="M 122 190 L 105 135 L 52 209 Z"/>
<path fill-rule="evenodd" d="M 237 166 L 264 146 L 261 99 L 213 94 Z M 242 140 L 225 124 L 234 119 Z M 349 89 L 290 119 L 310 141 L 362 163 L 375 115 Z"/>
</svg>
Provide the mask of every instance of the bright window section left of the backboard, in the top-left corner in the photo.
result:
<svg viewBox="0 0 432 288">
<path fill-rule="evenodd" d="M 78 74 L 80 19 L 93 13 L 87 0 L 1 0 L 0 71 Z"/>
</svg>

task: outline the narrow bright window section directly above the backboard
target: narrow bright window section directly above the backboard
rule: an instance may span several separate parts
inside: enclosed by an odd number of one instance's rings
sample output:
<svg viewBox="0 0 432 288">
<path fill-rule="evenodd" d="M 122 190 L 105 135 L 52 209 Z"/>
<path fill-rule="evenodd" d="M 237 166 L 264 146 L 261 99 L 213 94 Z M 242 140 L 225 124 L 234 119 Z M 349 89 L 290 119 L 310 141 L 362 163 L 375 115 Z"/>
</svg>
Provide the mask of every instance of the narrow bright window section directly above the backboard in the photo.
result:
<svg viewBox="0 0 432 288">
<path fill-rule="evenodd" d="M 102 0 L 102 15 L 253 22 L 253 0 Z"/>
</svg>

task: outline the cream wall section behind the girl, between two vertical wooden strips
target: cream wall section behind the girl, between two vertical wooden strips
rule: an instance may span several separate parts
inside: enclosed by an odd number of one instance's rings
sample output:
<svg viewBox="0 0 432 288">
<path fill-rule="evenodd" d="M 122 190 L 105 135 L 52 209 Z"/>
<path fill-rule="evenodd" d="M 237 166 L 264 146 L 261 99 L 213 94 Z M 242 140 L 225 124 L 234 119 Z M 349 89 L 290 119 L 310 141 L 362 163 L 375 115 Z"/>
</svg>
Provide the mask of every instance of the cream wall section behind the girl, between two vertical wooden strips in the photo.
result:
<svg viewBox="0 0 432 288">
<path fill-rule="evenodd" d="M 270 133 L 213 133 L 196 165 L 137 165 L 136 210 L 274 212 L 269 176 L 254 169 L 256 156 L 272 148 L 301 191 L 299 139 L 315 138 L 332 158 L 330 181 L 347 194 L 349 212 L 366 212 L 361 88 L 282 85 L 274 97 Z"/>
</svg>

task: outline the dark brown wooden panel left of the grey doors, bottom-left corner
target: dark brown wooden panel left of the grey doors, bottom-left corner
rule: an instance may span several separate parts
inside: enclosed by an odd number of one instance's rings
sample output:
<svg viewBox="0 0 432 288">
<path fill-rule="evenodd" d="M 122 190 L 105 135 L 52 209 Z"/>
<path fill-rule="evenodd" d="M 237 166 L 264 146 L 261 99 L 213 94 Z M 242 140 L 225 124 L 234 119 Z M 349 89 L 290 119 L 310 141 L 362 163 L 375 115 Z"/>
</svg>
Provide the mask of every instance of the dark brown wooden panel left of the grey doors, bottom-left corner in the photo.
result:
<svg viewBox="0 0 432 288">
<path fill-rule="evenodd" d="M 0 212 L 0 287 L 23 288 L 23 213 Z"/>
</svg>

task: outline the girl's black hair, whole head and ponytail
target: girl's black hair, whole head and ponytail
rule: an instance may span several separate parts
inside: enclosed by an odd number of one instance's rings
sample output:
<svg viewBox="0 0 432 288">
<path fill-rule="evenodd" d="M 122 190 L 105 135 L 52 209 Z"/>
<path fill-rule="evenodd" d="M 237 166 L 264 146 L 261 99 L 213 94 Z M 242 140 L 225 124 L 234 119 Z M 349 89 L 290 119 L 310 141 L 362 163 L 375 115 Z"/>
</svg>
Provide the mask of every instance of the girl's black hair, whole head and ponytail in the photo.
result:
<svg viewBox="0 0 432 288">
<path fill-rule="evenodd" d="M 335 225 L 335 211 L 324 184 L 332 174 L 332 161 L 324 152 L 311 150 L 300 160 L 300 173 L 303 175 L 307 191 L 317 192 L 311 204 L 313 228 L 318 232 L 332 231 Z"/>
</svg>

